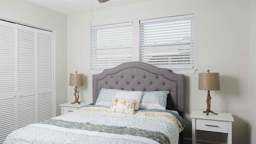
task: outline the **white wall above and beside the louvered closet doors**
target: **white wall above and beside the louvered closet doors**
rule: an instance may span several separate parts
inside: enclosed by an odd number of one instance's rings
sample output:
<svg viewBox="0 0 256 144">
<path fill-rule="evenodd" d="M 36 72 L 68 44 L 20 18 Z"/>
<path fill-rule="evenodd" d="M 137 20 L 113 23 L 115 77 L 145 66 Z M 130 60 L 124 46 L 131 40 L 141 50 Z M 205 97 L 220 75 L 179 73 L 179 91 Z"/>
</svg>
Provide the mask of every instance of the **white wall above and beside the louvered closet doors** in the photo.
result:
<svg viewBox="0 0 256 144">
<path fill-rule="evenodd" d="M 56 116 L 67 102 L 67 16 L 26 0 L 0 0 L 0 18 L 54 31 Z"/>
</svg>

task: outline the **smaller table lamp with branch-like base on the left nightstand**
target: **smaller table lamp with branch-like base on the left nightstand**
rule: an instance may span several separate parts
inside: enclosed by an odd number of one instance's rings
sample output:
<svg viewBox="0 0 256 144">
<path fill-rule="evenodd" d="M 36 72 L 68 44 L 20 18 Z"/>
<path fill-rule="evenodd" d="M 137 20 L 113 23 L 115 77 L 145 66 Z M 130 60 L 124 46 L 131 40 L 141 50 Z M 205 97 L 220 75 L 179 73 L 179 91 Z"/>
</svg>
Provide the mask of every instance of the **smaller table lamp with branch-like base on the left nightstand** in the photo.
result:
<svg viewBox="0 0 256 144">
<path fill-rule="evenodd" d="M 76 102 L 78 104 L 80 104 L 80 102 L 78 102 L 80 90 L 77 91 L 77 87 L 78 86 L 83 86 L 83 74 L 82 73 L 77 73 L 77 71 L 76 71 L 76 73 L 70 73 L 69 85 L 70 86 L 75 86 L 75 88 L 74 88 L 74 90 L 75 90 L 75 93 L 74 93 L 75 101 L 71 102 L 71 104 L 74 104 Z"/>
</svg>

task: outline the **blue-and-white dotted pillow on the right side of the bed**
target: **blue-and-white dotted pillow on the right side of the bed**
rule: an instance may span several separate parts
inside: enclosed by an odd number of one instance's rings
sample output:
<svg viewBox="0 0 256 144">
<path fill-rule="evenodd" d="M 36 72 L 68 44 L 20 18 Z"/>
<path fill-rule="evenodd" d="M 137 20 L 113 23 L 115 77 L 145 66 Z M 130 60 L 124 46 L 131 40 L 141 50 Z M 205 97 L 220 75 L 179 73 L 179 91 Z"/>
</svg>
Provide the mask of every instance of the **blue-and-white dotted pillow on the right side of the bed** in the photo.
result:
<svg viewBox="0 0 256 144">
<path fill-rule="evenodd" d="M 153 92 L 142 92 L 142 98 L 140 100 L 140 110 L 166 110 L 167 104 L 167 91 L 153 91 Z"/>
</svg>

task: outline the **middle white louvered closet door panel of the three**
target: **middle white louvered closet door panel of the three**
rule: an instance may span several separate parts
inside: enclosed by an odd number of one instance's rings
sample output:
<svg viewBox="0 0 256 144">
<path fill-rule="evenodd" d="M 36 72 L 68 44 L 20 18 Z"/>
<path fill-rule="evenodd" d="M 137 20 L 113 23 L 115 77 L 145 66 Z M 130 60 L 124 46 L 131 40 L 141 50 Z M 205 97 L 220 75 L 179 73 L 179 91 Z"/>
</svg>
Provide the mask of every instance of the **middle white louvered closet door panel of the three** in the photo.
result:
<svg viewBox="0 0 256 144">
<path fill-rule="evenodd" d="M 35 28 L 18 24 L 18 128 L 36 122 Z"/>
</svg>

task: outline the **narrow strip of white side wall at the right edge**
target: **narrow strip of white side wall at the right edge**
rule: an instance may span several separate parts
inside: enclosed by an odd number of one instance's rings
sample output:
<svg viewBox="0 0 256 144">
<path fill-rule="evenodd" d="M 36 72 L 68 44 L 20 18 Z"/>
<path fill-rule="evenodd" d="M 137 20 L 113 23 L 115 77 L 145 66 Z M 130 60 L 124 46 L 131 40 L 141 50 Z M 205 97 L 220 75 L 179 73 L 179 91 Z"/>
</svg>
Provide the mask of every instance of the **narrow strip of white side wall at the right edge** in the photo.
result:
<svg viewBox="0 0 256 144">
<path fill-rule="evenodd" d="M 256 144 L 256 1 L 251 2 L 251 27 L 250 27 L 250 51 L 249 51 L 249 104 L 248 120 L 249 140 Z"/>
</svg>

